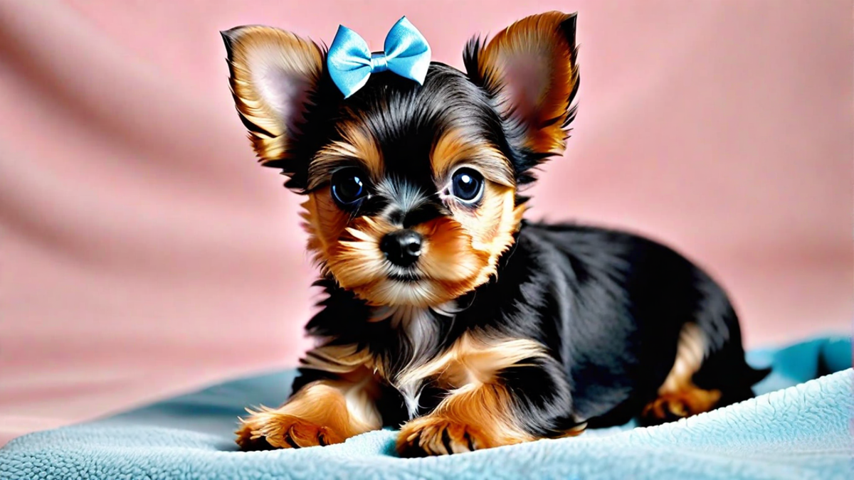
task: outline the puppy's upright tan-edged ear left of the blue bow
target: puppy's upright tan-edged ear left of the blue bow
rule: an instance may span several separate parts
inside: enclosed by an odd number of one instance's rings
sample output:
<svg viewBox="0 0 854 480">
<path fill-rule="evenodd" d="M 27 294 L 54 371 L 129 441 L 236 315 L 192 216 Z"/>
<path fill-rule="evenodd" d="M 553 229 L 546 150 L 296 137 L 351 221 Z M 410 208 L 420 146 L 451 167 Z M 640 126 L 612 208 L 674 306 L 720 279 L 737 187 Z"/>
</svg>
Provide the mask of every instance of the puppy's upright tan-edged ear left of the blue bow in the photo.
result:
<svg viewBox="0 0 854 480">
<path fill-rule="evenodd" d="M 324 52 L 310 40 L 269 26 L 237 26 L 220 33 L 237 113 L 261 164 L 278 167 L 293 155 L 323 75 Z"/>
</svg>

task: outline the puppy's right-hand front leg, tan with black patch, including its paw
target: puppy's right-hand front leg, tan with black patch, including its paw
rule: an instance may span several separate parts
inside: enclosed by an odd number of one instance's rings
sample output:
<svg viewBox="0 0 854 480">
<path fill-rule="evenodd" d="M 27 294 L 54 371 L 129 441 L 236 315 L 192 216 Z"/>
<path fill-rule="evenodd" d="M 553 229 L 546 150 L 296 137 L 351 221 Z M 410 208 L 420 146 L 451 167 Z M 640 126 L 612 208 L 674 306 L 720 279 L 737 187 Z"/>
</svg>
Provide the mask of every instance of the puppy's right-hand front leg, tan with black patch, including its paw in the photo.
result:
<svg viewBox="0 0 854 480">
<path fill-rule="evenodd" d="M 571 415 L 563 369 L 536 342 L 464 337 L 435 363 L 434 378 L 451 388 L 430 414 L 403 425 L 401 456 L 458 454 L 584 429 Z"/>
</svg>

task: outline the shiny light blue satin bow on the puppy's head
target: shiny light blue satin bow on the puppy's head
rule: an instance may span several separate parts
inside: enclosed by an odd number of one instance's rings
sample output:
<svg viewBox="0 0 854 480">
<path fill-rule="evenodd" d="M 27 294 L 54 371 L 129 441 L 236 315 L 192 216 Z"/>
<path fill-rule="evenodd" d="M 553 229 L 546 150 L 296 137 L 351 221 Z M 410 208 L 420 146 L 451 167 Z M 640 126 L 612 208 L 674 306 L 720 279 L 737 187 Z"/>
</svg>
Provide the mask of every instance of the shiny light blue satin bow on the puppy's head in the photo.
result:
<svg viewBox="0 0 854 480">
<path fill-rule="evenodd" d="M 407 17 L 401 18 L 391 27 L 385 37 L 383 50 L 371 54 L 364 38 L 346 26 L 338 26 L 326 56 L 326 65 L 332 81 L 344 94 L 344 98 L 365 86 L 371 73 L 386 70 L 415 80 L 418 85 L 424 84 L 427 68 L 430 67 L 430 45 Z"/>
</svg>

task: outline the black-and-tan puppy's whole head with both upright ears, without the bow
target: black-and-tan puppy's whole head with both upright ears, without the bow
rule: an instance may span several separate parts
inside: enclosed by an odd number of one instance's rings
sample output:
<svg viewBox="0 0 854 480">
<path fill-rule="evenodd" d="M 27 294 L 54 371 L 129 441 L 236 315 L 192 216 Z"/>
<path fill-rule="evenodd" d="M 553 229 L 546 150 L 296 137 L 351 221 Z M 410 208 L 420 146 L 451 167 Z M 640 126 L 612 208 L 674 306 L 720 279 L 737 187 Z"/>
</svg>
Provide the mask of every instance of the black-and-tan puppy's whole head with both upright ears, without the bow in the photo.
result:
<svg viewBox="0 0 854 480">
<path fill-rule="evenodd" d="M 325 50 L 290 32 L 223 32 L 255 152 L 307 196 L 308 248 L 372 305 L 438 306 L 495 273 L 519 187 L 564 149 L 578 87 L 576 16 L 551 12 L 433 62 L 423 85 L 372 74 L 344 99 Z"/>
</svg>

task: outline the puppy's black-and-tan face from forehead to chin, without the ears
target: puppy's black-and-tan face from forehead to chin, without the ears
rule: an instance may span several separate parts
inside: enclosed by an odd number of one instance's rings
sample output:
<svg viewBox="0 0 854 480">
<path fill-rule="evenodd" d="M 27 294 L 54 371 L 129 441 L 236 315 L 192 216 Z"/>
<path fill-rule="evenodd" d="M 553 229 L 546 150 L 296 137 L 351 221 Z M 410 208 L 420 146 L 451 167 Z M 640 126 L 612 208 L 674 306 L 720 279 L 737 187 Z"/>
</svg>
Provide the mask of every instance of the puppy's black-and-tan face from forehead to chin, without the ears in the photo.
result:
<svg viewBox="0 0 854 480">
<path fill-rule="evenodd" d="M 483 284 L 512 243 L 501 122 L 462 73 L 393 73 L 337 112 L 308 164 L 309 247 L 342 287 L 378 305 L 438 305 Z"/>
</svg>

